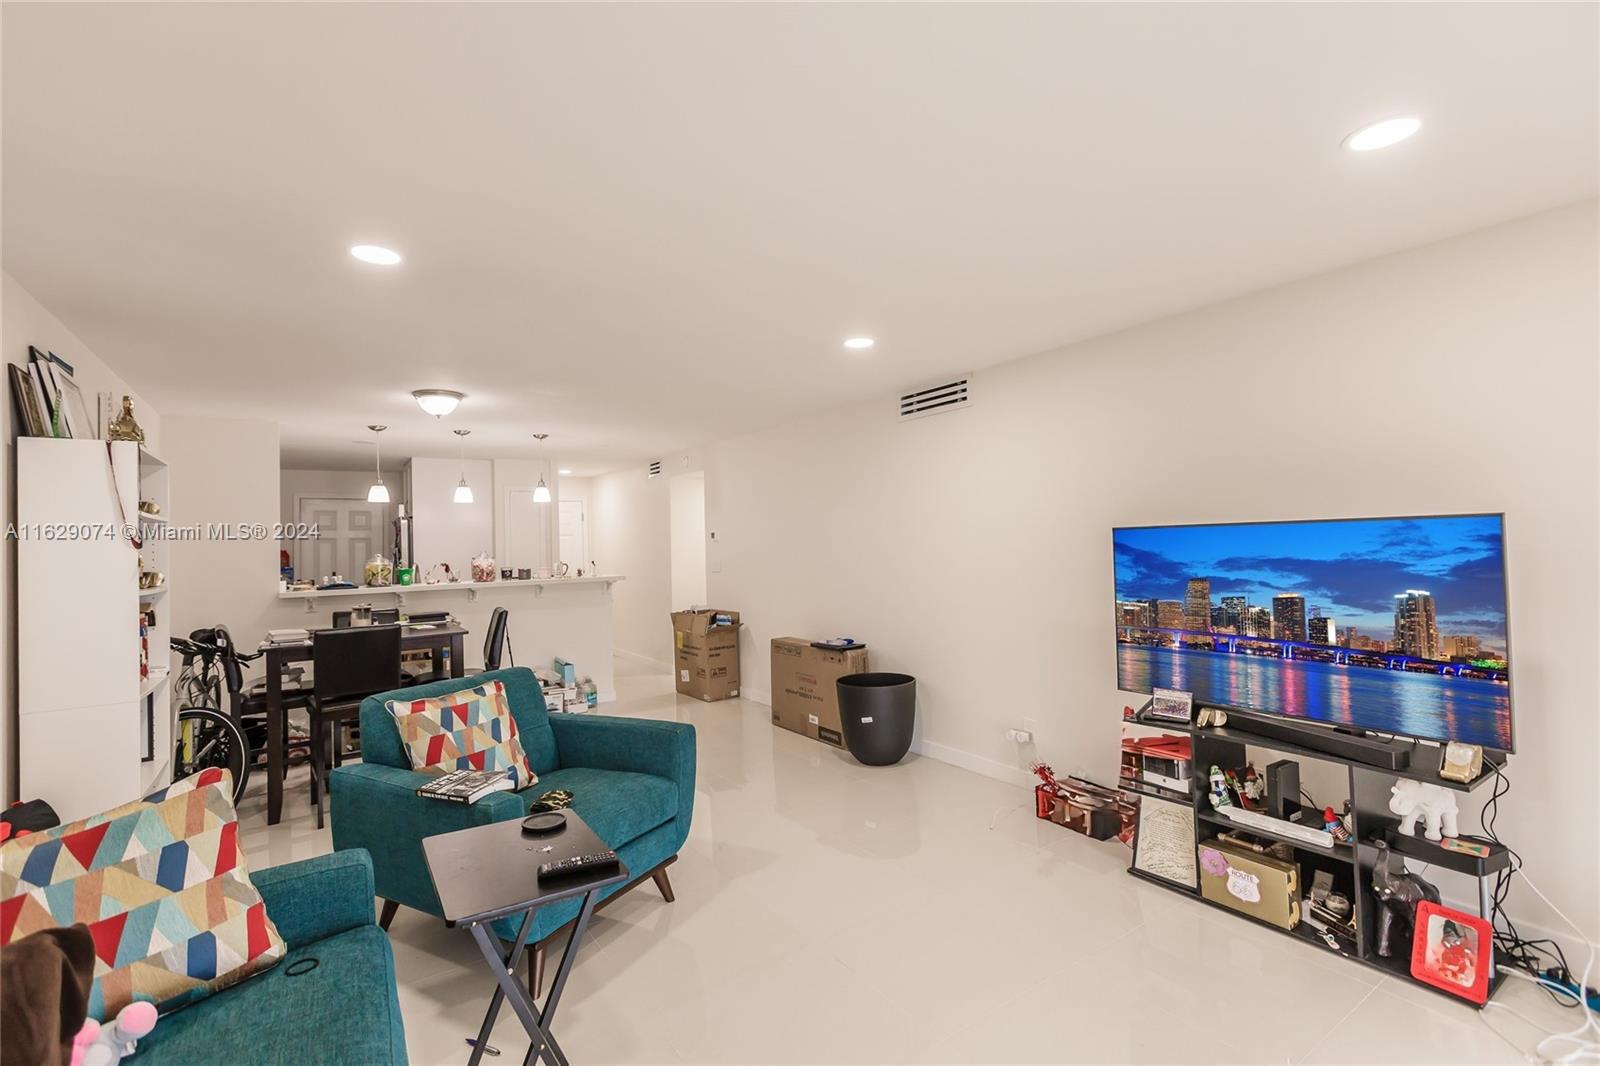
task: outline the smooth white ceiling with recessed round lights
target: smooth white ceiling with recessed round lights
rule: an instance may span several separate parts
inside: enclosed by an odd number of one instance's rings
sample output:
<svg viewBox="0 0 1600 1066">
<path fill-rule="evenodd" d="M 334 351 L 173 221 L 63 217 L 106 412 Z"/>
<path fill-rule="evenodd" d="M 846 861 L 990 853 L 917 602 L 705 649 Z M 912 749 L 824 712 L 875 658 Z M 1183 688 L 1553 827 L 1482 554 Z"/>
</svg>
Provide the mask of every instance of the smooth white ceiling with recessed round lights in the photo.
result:
<svg viewBox="0 0 1600 1066">
<path fill-rule="evenodd" d="M 389 455 L 547 431 L 594 472 L 1597 184 L 1594 5 L 3 19 L 5 269 L 157 410 L 275 418 L 294 466 L 382 421 Z M 440 426 L 422 386 L 469 400 Z"/>
</svg>

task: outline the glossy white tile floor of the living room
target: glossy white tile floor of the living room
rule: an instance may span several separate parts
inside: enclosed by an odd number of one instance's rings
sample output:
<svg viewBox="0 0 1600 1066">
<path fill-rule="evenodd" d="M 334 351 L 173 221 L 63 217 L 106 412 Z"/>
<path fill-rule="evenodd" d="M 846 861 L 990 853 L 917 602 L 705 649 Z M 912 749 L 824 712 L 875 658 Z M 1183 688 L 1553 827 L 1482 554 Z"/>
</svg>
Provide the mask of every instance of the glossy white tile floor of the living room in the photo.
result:
<svg viewBox="0 0 1600 1066">
<path fill-rule="evenodd" d="M 608 714 L 694 723 L 699 784 L 677 903 L 640 887 L 584 943 L 555 1023 L 574 1063 L 1515 1063 L 1538 1040 L 1138 882 L 1024 789 L 861 767 L 622 663 L 618 691 Z M 258 781 L 254 866 L 331 847 L 302 770 L 285 821 L 264 808 Z M 470 938 L 406 909 L 390 935 L 411 1061 L 466 1061 L 493 986 Z M 1578 1021 L 1522 983 L 1498 1002 Z M 485 1061 L 520 1060 L 509 1010 L 494 1032 Z"/>
</svg>

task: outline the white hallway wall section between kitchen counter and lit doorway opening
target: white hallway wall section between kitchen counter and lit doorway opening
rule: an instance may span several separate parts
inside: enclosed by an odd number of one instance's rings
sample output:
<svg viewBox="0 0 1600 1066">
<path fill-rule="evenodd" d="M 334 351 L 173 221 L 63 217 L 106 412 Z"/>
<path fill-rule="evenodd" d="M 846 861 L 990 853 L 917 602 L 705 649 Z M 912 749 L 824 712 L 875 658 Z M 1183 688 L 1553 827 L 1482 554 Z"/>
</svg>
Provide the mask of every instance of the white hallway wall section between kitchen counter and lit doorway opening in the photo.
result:
<svg viewBox="0 0 1600 1066">
<path fill-rule="evenodd" d="M 611 626 L 616 650 L 672 669 L 672 523 L 667 477 L 634 467 L 589 482 L 589 554 L 621 573 Z"/>
</svg>

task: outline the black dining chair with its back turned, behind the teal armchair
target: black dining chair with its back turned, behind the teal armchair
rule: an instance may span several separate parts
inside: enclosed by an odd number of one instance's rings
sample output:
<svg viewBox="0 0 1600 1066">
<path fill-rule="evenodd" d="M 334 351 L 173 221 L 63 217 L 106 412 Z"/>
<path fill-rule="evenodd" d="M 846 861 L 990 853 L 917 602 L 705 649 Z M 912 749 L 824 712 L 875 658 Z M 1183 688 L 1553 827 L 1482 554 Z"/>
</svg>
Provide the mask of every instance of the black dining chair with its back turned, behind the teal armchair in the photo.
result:
<svg viewBox="0 0 1600 1066">
<path fill-rule="evenodd" d="M 322 829 L 328 770 L 344 762 L 344 725 L 362 699 L 400 687 L 400 626 L 318 629 L 310 637 L 310 797 Z"/>
</svg>

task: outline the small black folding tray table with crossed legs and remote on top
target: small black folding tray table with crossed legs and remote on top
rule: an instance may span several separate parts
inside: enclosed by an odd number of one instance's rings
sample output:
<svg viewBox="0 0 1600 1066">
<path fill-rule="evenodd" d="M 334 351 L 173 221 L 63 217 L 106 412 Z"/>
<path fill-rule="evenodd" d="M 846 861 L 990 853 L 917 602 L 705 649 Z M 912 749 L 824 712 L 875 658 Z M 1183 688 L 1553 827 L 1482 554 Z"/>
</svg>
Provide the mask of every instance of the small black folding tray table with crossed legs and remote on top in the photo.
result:
<svg viewBox="0 0 1600 1066">
<path fill-rule="evenodd" d="M 522 1028 L 528 1031 L 531 1040 L 528 1055 L 522 1060 L 523 1066 L 533 1066 L 541 1058 L 550 1066 L 568 1066 L 560 1044 L 550 1036 L 550 1023 L 555 1018 L 562 989 L 566 988 L 566 975 L 573 970 L 578 946 L 584 940 L 584 930 L 589 928 L 589 917 L 595 911 L 600 892 L 626 882 L 627 868 L 618 864 L 616 869 L 602 874 L 563 877 L 541 884 L 538 868 L 544 863 L 608 850 L 576 812 L 566 810 L 563 813 L 566 815 L 566 828 L 546 837 L 523 834 L 522 821 L 499 821 L 422 840 L 422 855 L 445 912 L 445 924 L 472 930 L 472 938 L 478 941 L 483 960 L 494 972 L 494 996 L 490 999 L 488 1013 L 483 1015 L 483 1024 L 478 1028 L 478 1039 L 467 1058 L 469 1066 L 478 1066 L 478 1060 L 483 1058 L 483 1048 L 494 1029 L 494 1018 L 506 1000 L 510 1000 L 510 1008 L 517 1013 L 517 1020 L 522 1021 Z M 517 978 L 517 964 L 528 946 L 533 912 L 574 896 L 582 896 L 582 906 L 573 924 L 571 940 L 566 941 L 566 951 L 562 952 L 562 962 L 555 968 L 550 994 L 544 997 L 541 1010 L 533 1002 L 533 996 L 528 994 L 528 986 Z M 517 938 L 510 948 L 502 948 L 490 924 L 514 914 L 522 914 L 522 922 L 517 924 Z"/>
</svg>

